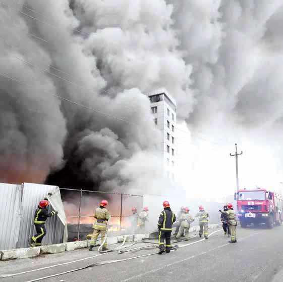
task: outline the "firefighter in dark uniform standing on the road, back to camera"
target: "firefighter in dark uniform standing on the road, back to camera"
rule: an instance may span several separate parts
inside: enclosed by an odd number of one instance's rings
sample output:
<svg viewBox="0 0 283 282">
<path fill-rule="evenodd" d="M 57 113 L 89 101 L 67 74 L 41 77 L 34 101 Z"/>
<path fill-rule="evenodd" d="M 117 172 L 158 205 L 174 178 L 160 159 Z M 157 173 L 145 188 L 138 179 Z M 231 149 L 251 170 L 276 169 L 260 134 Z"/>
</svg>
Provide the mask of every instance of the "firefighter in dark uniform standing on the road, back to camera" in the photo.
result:
<svg viewBox="0 0 283 282">
<path fill-rule="evenodd" d="M 159 255 L 161 255 L 164 251 L 166 251 L 166 253 L 170 253 L 172 225 L 176 221 L 176 216 L 171 210 L 168 201 L 163 202 L 163 208 L 164 210 L 161 212 L 157 223 L 157 228 L 159 231 Z M 166 246 L 164 246 L 164 239 Z"/>
</svg>

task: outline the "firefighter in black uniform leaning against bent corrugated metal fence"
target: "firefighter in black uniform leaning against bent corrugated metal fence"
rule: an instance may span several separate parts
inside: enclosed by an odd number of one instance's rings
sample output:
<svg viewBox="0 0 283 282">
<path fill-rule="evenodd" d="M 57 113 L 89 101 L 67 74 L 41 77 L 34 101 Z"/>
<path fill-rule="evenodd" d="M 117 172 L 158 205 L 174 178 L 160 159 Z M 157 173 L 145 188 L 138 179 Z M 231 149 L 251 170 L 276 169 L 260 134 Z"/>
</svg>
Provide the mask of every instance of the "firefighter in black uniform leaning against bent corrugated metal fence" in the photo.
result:
<svg viewBox="0 0 283 282">
<path fill-rule="evenodd" d="M 40 246 L 43 237 L 46 235 L 45 221 L 47 217 L 54 216 L 58 214 L 58 211 L 48 212 L 47 206 L 49 202 L 47 200 L 41 200 L 34 213 L 34 226 L 36 229 L 36 234 L 28 240 L 31 247 Z"/>
</svg>

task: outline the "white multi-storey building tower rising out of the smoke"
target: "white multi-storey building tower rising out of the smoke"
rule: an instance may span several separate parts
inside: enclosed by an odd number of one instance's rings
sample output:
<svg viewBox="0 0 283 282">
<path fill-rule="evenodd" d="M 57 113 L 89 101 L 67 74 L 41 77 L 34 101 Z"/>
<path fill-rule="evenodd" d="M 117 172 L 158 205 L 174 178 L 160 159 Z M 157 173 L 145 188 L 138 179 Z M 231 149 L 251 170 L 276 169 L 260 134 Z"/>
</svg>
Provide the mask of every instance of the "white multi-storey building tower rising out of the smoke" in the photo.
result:
<svg viewBox="0 0 283 282">
<path fill-rule="evenodd" d="M 165 175 L 175 179 L 176 165 L 176 118 L 177 103 L 166 89 L 161 88 L 147 94 L 151 102 L 154 123 L 161 130 L 160 152 Z"/>
</svg>

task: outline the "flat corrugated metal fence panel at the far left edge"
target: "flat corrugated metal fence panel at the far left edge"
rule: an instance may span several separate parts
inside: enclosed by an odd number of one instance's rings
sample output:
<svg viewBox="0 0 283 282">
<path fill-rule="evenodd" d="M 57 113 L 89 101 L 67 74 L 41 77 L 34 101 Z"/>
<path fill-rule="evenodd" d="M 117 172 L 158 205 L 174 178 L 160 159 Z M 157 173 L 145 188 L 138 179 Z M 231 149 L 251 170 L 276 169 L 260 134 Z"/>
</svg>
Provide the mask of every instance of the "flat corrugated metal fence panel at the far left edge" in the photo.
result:
<svg viewBox="0 0 283 282">
<path fill-rule="evenodd" d="M 0 250 L 15 249 L 20 231 L 22 187 L 0 183 Z"/>
</svg>

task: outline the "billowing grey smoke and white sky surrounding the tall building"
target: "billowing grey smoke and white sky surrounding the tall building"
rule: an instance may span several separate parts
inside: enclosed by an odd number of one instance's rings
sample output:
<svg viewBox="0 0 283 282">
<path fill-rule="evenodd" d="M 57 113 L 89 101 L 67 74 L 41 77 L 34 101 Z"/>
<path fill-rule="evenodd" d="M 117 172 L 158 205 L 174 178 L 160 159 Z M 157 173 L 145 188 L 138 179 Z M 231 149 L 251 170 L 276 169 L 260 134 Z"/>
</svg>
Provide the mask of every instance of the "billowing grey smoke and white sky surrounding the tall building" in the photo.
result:
<svg viewBox="0 0 283 282">
<path fill-rule="evenodd" d="M 234 193 L 235 142 L 241 186 L 283 181 L 281 0 L 2 0 L 0 21 L 0 181 L 170 190 L 159 87 L 178 103 L 172 189 Z"/>
</svg>

